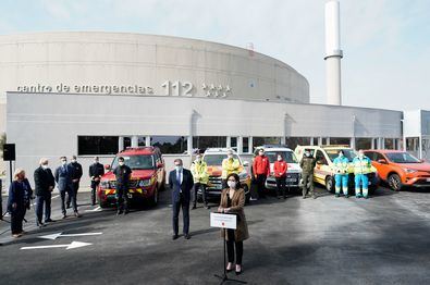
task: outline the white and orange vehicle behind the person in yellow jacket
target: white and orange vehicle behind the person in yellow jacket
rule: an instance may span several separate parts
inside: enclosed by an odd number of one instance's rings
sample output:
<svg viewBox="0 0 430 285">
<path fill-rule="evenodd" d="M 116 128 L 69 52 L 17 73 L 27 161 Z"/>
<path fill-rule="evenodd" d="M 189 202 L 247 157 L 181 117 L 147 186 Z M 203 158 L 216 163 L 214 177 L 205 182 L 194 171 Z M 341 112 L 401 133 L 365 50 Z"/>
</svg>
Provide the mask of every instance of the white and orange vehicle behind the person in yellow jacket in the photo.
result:
<svg viewBox="0 0 430 285">
<path fill-rule="evenodd" d="M 207 186 L 207 195 L 209 199 L 220 199 L 222 185 L 222 161 L 228 157 L 228 148 L 208 148 L 204 153 L 204 161 L 208 165 L 209 183 Z M 237 175 L 241 179 L 241 186 L 245 190 L 246 202 L 250 199 L 250 175 L 246 168 L 249 166 L 249 162 L 242 161 L 241 157 L 233 151 L 233 159 L 238 161 Z M 201 198 L 199 190 L 198 198 Z"/>
</svg>

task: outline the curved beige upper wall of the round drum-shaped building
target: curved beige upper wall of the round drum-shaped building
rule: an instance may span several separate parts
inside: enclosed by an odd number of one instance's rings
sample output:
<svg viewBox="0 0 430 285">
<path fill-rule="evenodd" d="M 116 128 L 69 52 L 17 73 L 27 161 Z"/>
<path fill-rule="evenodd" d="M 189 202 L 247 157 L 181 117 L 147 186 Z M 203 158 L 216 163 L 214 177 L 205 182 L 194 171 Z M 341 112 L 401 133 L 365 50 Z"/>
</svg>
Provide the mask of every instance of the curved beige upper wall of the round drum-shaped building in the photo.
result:
<svg viewBox="0 0 430 285">
<path fill-rule="evenodd" d="M 145 88 L 143 96 L 206 97 L 209 92 L 210 97 L 225 94 L 234 99 L 309 102 L 306 78 L 279 60 L 216 42 L 140 34 L 0 36 L 0 115 L 5 91 L 38 88 L 46 92 L 50 87 L 58 92 L 66 91 L 64 86 L 70 92 L 81 92 L 75 86 L 96 86 L 95 92 L 105 94 L 101 86 L 137 85 Z"/>
</svg>

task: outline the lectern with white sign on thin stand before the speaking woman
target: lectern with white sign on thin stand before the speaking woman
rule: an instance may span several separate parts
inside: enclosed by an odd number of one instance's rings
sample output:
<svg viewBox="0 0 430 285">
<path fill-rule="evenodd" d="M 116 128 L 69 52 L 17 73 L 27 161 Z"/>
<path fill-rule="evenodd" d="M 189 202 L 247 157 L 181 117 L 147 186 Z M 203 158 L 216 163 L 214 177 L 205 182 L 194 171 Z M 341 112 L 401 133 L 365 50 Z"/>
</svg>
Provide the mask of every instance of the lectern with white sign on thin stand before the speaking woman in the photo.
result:
<svg viewBox="0 0 430 285">
<path fill-rule="evenodd" d="M 226 275 L 226 259 L 225 259 L 225 245 L 226 245 L 226 230 L 236 230 L 237 227 L 237 216 L 235 214 L 230 214 L 230 213 L 210 213 L 210 226 L 211 227 L 220 227 L 222 228 L 222 231 L 224 231 L 224 238 L 223 238 L 223 247 L 224 247 L 224 270 L 223 270 L 223 274 L 219 275 L 219 274 L 214 274 L 214 276 L 217 278 L 221 280 L 221 285 L 224 284 L 224 282 L 236 282 L 239 284 L 246 284 L 245 281 L 241 281 L 241 280 L 233 280 L 233 278 L 229 278 L 229 276 Z"/>
</svg>

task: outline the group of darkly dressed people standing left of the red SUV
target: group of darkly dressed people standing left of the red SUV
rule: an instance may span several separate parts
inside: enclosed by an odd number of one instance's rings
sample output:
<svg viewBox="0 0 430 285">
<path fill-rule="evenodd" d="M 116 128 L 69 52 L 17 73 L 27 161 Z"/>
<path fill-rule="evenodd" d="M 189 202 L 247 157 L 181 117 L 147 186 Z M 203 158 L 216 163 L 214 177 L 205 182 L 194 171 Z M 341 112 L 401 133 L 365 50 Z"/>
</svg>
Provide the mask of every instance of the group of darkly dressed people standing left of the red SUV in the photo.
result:
<svg viewBox="0 0 430 285">
<path fill-rule="evenodd" d="M 52 173 L 48 164 L 48 159 L 40 159 L 39 166 L 34 172 L 34 191 L 30 183 L 26 178 L 25 171 L 17 169 L 14 172 L 13 182 L 9 187 L 8 198 L 8 212 L 11 214 L 13 237 L 20 237 L 25 233 L 23 231 L 23 221 L 25 220 L 26 210 L 30 209 L 30 200 L 34 198 L 36 200 L 35 212 L 37 226 L 42 227 L 47 223 L 56 222 L 51 219 L 51 199 L 56 185 L 61 198 L 62 219 L 67 218 L 66 209 L 71 207 L 73 208 L 73 214 L 76 218 L 81 218 L 77 210 L 76 197 L 79 189 L 81 177 L 83 176 L 82 165 L 77 162 L 75 156 L 72 156 L 70 163 L 67 163 L 66 157 L 61 157 L 60 165 L 56 169 L 54 173 Z M 103 173 L 103 168 L 96 157 L 95 163 L 89 166 L 93 205 L 95 203 L 96 197 L 95 189 L 100 183 L 100 177 Z"/>
</svg>

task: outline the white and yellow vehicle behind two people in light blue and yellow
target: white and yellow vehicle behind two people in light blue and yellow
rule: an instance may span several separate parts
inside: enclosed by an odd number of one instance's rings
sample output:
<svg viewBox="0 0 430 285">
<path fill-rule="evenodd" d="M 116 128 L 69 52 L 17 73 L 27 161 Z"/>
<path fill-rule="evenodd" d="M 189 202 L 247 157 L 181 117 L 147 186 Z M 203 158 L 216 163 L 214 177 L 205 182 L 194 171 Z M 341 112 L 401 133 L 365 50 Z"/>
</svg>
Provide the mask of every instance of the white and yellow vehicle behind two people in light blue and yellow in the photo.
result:
<svg viewBox="0 0 430 285">
<path fill-rule="evenodd" d="M 314 171 L 314 182 L 323 185 L 330 193 L 334 193 L 334 164 L 333 161 L 339 156 L 339 151 L 343 150 L 344 156 L 349 160 L 348 165 L 348 191 L 349 195 L 354 195 L 354 165 L 353 159 L 357 157 L 357 152 L 349 146 L 344 145 L 331 145 L 331 146 L 297 146 L 295 153 L 299 161 L 302 161 L 306 150 L 309 150 L 311 156 L 316 159 L 317 165 Z M 379 176 L 377 169 L 371 166 L 369 176 L 369 194 L 374 193 L 379 186 Z"/>
</svg>

